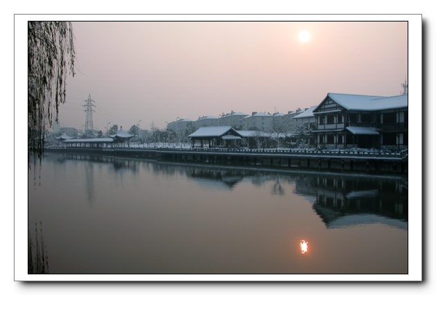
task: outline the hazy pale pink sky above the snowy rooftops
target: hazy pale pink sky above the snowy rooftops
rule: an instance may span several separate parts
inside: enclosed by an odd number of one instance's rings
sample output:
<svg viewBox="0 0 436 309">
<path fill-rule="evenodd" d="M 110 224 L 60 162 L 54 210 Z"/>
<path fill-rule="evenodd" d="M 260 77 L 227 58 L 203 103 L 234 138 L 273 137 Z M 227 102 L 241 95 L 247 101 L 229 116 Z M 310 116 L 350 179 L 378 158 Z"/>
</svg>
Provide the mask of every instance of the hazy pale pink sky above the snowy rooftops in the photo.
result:
<svg viewBox="0 0 436 309">
<path fill-rule="evenodd" d="M 408 74 L 408 23 L 77 21 L 76 76 L 60 125 L 129 129 L 221 113 L 287 113 L 328 92 L 395 96 Z M 300 31 L 310 39 L 300 42 Z"/>
</svg>

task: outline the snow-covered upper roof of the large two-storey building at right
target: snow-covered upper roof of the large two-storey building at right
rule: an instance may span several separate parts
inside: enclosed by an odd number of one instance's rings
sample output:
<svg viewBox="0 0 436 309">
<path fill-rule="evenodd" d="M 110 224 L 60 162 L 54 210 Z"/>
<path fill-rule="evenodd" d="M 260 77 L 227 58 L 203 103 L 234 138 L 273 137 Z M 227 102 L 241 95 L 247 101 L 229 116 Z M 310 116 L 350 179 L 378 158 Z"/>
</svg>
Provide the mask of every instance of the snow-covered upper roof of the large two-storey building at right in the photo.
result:
<svg viewBox="0 0 436 309">
<path fill-rule="evenodd" d="M 380 110 L 408 107 L 408 95 L 365 96 L 361 94 L 327 94 L 338 105 L 348 110 Z M 326 98 L 327 98 L 326 97 Z M 324 101 L 324 100 L 323 100 Z M 319 106 L 319 105 L 318 105 Z"/>
</svg>

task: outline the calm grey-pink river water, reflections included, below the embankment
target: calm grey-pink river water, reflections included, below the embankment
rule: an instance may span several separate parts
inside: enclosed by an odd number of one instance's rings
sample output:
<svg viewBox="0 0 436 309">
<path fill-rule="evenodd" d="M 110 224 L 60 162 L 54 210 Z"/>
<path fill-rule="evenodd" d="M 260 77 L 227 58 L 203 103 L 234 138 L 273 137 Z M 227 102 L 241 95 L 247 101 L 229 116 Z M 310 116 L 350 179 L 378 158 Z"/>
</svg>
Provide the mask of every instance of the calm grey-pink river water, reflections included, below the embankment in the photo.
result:
<svg viewBox="0 0 436 309">
<path fill-rule="evenodd" d="M 401 178 L 71 154 L 46 154 L 40 184 L 31 173 L 51 274 L 408 272 Z"/>
</svg>

